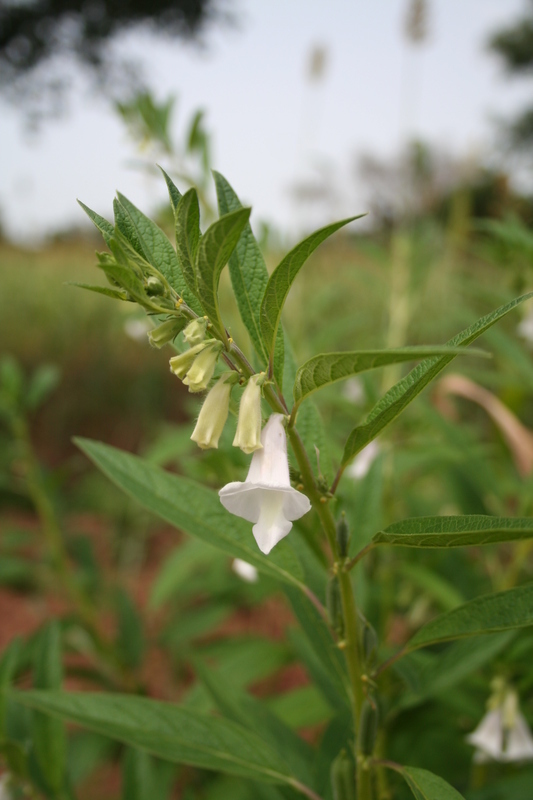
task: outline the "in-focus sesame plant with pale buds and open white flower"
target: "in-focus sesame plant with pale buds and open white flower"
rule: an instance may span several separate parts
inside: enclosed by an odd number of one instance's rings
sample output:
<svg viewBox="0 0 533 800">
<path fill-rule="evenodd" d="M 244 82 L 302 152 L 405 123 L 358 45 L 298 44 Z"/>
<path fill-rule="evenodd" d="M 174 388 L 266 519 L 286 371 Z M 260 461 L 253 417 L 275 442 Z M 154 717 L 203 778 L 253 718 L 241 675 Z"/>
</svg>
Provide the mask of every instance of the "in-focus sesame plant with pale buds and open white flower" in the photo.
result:
<svg viewBox="0 0 533 800">
<path fill-rule="evenodd" d="M 144 309 L 153 321 L 150 343 L 168 347 L 172 373 L 198 398 L 190 438 L 202 451 L 217 449 L 236 415 L 233 447 L 249 458 L 248 471 L 213 490 L 106 444 L 87 439 L 77 444 L 144 508 L 217 548 L 221 557 L 238 560 L 240 569 L 253 568 L 280 586 L 301 626 L 302 660 L 332 712 L 310 744 L 267 704 L 199 662 L 197 675 L 217 714 L 193 702 L 151 699 L 135 689 L 63 691 L 55 678 L 47 684 L 44 677 L 41 688 L 11 690 L 10 702 L 36 713 L 50 737 L 52 761 L 54 737 L 64 736 L 63 728 L 54 727 L 59 719 L 163 761 L 235 776 L 250 787 L 249 796 L 265 800 L 386 800 L 406 791 L 416 800 L 457 800 L 463 786 L 422 768 L 417 758 L 413 766 L 391 756 L 390 732 L 402 709 L 413 705 L 415 673 L 426 688 L 431 680 L 445 688 L 450 671 L 461 673 L 463 667 L 466 674 L 470 666 L 486 663 L 511 642 L 514 631 L 533 625 L 533 583 L 455 605 L 397 647 L 386 640 L 386 623 L 360 587 L 372 580 L 365 570 L 381 552 L 524 544 L 533 540 L 533 519 L 425 516 L 399 520 L 363 541 L 357 510 L 343 500 L 348 480 L 343 476 L 448 364 L 461 355 L 483 356 L 467 348 L 533 293 L 487 313 L 444 345 L 319 353 L 297 365 L 282 325 L 291 286 L 313 251 L 358 217 L 311 234 L 269 275 L 250 227 L 250 209 L 220 174 L 214 173 L 219 218 L 204 232 L 196 190 L 182 195 L 163 174 L 176 247 L 122 195 L 114 204 L 114 225 L 83 206 L 107 245 L 97 257 L 108 280 L 107 286 L 84 288 Z M 226 265 L 231 302 L 247 333 L 242 341 L 232 335 L 219 301 Z M 327 326 L 328 320 L 317 324 Z M 354 420 L 344 434 L 342 458 L 332 465 L 315 396 L 319 404 L 323 388 L 407 362 L 418 364 L 384 392 L 365 419 Z M 380 591 L 385 594 L 387 586 L 375 586 L 373 596 Z M 46 643 L 40 652 L 46 664 Z M 448 670 L 439 670 L 440 655 Z M 5 665 L 0 679 L 9 683 Z M 518 694 L 506 680 L 493 682 L 488 714 L 470 742 L 479 764 L 533 756 Z M 70 798 L 59 768 L 57 774 L 45 795 Z"/>
</svg>

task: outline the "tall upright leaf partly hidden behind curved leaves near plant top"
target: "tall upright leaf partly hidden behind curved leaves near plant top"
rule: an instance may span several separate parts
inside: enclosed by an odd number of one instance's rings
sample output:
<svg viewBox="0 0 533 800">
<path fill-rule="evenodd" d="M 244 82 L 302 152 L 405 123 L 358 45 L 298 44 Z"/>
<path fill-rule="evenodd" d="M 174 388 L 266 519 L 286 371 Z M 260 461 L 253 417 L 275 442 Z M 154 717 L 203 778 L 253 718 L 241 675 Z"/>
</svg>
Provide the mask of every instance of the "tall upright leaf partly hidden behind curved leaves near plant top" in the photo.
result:
<svg viewBox="0 0 533 800">
<path fill-rule="evenodd" d="M 220 215 L 229 214 L 230 211 L 242 208 L 241 201 L 220 172 L 214 171 L 213 177 L 217 188 Z M 268 283 L 268 270 L 249 223 L 241 233 L 237 247 L 230 256 L 228 266 L 242 321 L 250 334 L 257 355 L 263 365 L 266 365 L 268 350 L 261 335 L 260 309 L 261 299 Z M 283 331 L 279 328 L 274 352 L 274 375 L 280 388 L 283 385 L 283 359 Z"/>
</svg>

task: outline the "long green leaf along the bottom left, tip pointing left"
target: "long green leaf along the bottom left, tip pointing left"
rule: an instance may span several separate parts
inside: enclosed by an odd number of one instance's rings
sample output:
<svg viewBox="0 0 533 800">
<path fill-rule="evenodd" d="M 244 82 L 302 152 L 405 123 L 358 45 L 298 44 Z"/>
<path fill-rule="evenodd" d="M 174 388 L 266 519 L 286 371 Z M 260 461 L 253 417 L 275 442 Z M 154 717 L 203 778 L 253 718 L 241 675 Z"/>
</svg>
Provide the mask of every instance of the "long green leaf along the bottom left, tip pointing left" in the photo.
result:
<svg viewBox="0 0 533 800">
<path fill-rule="evenodd" d="M 13 697 L 167 761 L 294 785 L 277 753 L 251 731 L 224 719 L 132 695 L 36 691 Z"/>
</svg>

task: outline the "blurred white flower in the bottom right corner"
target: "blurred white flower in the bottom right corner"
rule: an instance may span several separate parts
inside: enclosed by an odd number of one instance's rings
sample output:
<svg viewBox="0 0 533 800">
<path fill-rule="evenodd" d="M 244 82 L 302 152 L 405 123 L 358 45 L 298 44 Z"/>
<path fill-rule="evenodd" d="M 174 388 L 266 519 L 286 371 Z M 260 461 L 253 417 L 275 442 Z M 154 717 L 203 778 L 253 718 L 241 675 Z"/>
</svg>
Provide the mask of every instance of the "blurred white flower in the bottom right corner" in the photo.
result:
<svg viewBox="0 0 533 800">
<path fill-rule="evenodd" d="M 488 711 L 466 739 L 474 745 L 474 761 L 530 761 L 533 759 L 533 735 L 520 713 L 518 696 L 501 678 L 493 683 Z"/>
</svg>

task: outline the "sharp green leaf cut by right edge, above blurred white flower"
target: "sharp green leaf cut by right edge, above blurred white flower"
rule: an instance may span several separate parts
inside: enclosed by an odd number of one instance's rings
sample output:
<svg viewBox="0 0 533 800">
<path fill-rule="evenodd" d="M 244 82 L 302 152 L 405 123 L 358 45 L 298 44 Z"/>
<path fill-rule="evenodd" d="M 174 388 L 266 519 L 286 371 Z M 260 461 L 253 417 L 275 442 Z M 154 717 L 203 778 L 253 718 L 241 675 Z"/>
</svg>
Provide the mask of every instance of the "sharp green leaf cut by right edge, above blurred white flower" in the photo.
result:
<svg viewBox="0 0 533 800">
<path fill-rule="evenodd" d="M 533 583 L 476 597 L 427 622 L 405 645 L 409 653 L 437 642 L 533 625 Z"/>
</svg>

